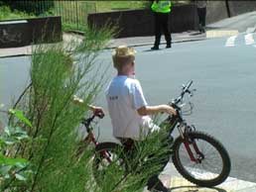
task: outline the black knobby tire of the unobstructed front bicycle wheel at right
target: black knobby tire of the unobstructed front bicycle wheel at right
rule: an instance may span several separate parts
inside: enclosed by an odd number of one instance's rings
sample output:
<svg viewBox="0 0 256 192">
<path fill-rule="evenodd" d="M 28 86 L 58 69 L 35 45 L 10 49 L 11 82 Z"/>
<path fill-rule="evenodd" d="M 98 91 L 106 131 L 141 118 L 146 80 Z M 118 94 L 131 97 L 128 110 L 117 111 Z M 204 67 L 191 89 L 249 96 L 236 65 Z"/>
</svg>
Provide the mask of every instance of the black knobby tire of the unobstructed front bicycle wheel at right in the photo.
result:
<svg viewBox="0 0 256 192">
<path fill-rule="evenodd" d="M 225 147 L 219 141 L 214 139 L 212 136 L 209 136 L 202 132 L 196 132 L 196 131 L 191 132 L 188 134 L 188 137 L 190 139 L 192 139 L 193 141 L 194 140 L 197 141 L 196 144 L 198 144 L 198 141 L 203 141 L 205 144 L 210 144 L 214 149 L 216 149 L 216 152 L 219 154 L 219 157 L 221 158 L 222 167 L 220 167 L 219 174 L 212 173 L 212 175 L 216 174 L 216 176 L 214 178 L 211 178 L 211 179 L 195 178 L 195 175 L 193 175 L 189 171 L 190 169 L 193 169 L 193 168 L 186 167 L 182 162 L 182 159 L 181 159 L 182 152 L 180 149 L 181 149 L 182 145 L 184 145 L 184 139 L 182 137 L 179 137 L 176 139 L 176 141 L 173 145 L 174 154 L 172 156 L 173 163 L 174 163 L 175 167 L 177 168 L 177 170 L 183 175 L 184 178 L 186 178 L 187 180 L 189 180 L 192 183 L 194 183 L 198 186 L 201 186 L 201 187 L 213 187 L 213 186 L 216 186 L 216 185 L 219 185 L 220 183 L 222 183 L 228 177 L 228 175 L 230 173 L 230 169 L 231 169 L 230 157 L 229 157 L 228 152 L 225 149 Z M 201 151 L 202 149 L 199 149 L 199 150 Z M 202 161 L 203 160 L 206 161 L 207 156 L 204 156 L 204 154 L 202 154 L 202 155 L 203 155 Z M 189 158 L 188 152 L 187 152 L 187 156 Z M 210 158 L 208 158 L 208 159 L 210 159 Z M 202 161 L 199 163 L 202 163 Z M 210 166 L 213 166 L 213 165 L 217 165 L 217 163 L 210 164 Z M 194 171 L 194 169 L 193 169 L 193 171 Z M 204 171 L 204 170 L 200 170 L 200 171 Z M 196 172 L 196 171 L 194 171 L 194 172 Z M 211 174 L 211 173 L 204 172 L 202 174 Z"/>
</svg>

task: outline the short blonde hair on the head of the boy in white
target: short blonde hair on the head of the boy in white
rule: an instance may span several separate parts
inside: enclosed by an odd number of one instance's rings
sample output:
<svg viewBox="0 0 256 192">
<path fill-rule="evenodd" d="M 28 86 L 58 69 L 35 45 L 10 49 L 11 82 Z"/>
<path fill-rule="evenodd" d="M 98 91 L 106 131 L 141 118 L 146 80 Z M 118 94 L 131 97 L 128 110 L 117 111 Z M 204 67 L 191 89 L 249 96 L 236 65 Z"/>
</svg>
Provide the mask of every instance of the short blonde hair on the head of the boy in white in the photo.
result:
<svg viewBox="0 0 256 192">
<path fill-rule="evenodd" d="M 135 60 L 136 50 L 134 48 L 128 48 L 127 46 L 119 46 L 112 52 L 112 59 L 114 67 L 117 70 L 121 70 L 122 67 Z"/>
</svg>

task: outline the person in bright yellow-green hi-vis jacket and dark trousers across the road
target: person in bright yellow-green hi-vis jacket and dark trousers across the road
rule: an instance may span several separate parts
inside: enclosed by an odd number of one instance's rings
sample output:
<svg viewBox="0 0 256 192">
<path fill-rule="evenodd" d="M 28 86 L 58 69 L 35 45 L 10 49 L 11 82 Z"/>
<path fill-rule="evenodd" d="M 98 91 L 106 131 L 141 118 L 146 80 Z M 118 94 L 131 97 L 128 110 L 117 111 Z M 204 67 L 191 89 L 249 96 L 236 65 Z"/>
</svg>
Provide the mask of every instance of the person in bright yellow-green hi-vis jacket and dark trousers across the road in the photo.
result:
<svg viewBox="0 0 256 192">
<path fill-rule="evenodd" d="M 154 12 L 155 17 L 155 44 L 151 48 L 152 50 L 159 49 L 162 31 L 167 42 L 166 48 L 172 48 L 172 37 L 168 26 L 171 7 L 170 0 L 155 0 L 151 5 L 151 10 Z"/>
</svg>

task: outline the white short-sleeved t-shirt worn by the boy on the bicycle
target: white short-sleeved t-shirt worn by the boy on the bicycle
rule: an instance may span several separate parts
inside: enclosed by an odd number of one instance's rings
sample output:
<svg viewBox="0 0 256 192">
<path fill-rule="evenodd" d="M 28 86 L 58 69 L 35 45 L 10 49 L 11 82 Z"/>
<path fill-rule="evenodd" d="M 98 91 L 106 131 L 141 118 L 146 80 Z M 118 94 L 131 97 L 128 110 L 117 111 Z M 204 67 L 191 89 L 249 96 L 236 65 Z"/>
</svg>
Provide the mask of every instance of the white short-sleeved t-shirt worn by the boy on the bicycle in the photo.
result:
<svg viewBox="0 0 256 192">
<path fill-rule="evenodd" d="M 106 99 L 115 138 L 143 140 L 149 131 L 159 130 L 149 116 L 137 112 L 148 105 L 138 80 L 125 75 L 114 77 L 106 89 Z"/>
</svg>

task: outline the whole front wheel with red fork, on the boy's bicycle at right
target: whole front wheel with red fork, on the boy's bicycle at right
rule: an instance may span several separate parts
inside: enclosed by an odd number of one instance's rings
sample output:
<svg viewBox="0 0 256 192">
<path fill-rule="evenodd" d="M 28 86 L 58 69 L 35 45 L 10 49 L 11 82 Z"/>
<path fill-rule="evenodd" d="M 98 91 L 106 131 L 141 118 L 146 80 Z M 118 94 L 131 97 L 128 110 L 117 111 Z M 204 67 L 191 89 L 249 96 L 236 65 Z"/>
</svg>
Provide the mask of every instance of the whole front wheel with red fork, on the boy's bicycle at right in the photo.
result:
<svg viewBox="0 0 256 192">
<path fill-rule="evenodd" d="M 192 183 L 213 187 L 229 175 L 231 162 L 227 150 L 213 137 L 192 132 L 174 144 L 173 162 L 177 170 Z"/>
</svg>

